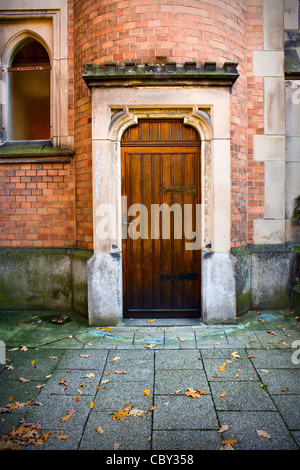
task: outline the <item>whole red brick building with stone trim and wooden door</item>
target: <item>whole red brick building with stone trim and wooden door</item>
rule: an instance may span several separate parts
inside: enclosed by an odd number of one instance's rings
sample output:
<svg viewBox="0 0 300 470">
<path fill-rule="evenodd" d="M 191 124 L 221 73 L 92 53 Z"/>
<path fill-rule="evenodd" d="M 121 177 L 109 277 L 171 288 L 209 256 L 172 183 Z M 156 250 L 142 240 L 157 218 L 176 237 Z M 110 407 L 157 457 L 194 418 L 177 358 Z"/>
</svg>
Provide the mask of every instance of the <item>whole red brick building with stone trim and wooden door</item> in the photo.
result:
<svg viewBox="0 0 300 470">
<path fill-rule="evenodd" d="M 298 0 L 2 0 L 0 309 L 293 306 L 299 47 Z"/>
</svg>

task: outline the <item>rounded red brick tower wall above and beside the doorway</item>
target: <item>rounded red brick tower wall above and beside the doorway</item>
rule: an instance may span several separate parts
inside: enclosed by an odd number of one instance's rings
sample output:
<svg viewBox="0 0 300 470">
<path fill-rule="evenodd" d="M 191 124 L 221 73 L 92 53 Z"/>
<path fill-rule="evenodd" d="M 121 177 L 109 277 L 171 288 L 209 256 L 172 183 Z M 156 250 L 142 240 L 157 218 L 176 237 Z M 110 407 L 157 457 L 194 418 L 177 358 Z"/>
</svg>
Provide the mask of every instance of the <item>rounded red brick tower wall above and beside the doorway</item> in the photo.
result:
<svg viewBox="0 0 300 470">
<path fill-rule="evenodd" d="M 77 243 L 92 243 L 91 98 L 83 64 L 239 62 L 232 93 L 232 240 L 247 243 L 246 0 L 78 0 L 74 4 Z M 162 59 L 159 59 L 162 58 Z"/>
</svg>

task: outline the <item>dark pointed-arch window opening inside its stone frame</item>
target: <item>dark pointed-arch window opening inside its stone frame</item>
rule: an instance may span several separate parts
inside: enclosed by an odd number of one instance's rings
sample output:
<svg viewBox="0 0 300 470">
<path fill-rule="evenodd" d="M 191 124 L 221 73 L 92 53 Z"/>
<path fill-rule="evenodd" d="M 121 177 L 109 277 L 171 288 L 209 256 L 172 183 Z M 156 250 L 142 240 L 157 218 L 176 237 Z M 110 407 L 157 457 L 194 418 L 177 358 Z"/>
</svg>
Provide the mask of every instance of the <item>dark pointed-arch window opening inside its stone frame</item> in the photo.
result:
<svg viewBox="0 0 300 470">
<path fill-rule="evenodd" d="M 50 139 L 50 59 L 32 38 L 15 51 L 9 72 L 9 140 Z"/>
</svg>

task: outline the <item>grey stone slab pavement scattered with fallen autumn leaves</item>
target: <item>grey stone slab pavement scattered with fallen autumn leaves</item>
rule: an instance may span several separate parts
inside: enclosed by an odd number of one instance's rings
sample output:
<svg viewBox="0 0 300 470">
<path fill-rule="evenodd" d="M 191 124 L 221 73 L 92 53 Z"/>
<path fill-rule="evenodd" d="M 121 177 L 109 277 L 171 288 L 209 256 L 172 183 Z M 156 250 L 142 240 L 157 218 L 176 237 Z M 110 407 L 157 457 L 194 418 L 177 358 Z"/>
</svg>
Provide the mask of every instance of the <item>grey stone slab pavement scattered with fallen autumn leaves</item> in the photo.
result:
<svg viewBox="0 0 300 470">
<path fill-rule="evenodd" d="M 299 450 L 295 313 L 178 323 L 2 312 L 0 447 Z"/>
</svg>

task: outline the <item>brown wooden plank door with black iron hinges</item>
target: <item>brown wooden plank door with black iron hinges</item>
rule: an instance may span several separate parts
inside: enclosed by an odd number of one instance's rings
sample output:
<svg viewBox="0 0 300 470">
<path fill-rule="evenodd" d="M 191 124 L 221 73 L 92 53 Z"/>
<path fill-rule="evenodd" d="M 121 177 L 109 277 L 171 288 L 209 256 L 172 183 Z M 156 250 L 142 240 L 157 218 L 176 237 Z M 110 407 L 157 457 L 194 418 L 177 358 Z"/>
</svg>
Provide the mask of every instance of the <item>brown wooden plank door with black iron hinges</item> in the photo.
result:
<svg viewBox="0 0 300 470">
<path fill-rule="evenodd" d="M 201 203 L 199 134 L 179 120 L 141 120 L 121 148 L 124 317 L 200 317 L 200 250 L 186 249 Z"/>
</svg>

